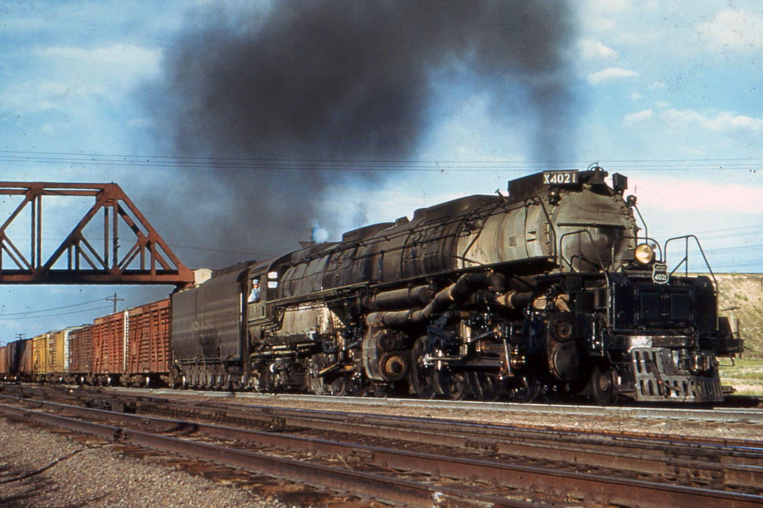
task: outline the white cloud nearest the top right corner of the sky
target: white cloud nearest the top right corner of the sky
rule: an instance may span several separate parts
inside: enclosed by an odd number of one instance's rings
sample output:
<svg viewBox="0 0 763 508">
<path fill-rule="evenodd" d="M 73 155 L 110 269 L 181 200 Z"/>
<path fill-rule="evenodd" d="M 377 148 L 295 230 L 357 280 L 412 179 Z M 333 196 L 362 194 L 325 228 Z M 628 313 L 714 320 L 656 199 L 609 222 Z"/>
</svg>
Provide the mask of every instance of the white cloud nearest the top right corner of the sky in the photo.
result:
<svg viewBox="0 0 763 508">
<path fill-rule="evenodd" d="M 713 50 L 763 50 L 763 18 L 749 12 L 721 11 L 713 20 L 698 24 L 697 33 Z"/>
</svg>

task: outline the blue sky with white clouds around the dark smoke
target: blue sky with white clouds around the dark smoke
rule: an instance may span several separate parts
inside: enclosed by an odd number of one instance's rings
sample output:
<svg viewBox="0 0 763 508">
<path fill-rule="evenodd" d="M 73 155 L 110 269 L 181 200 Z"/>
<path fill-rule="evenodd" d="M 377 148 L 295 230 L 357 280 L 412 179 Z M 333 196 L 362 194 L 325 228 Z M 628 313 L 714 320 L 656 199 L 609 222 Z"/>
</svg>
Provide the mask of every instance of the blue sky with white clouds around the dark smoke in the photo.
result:
<svg viewBox="0 0 763 508">
<path fill-rule="evenodd" d="M 222 5 L 229 13 L 250 8 L 250 2 Z M 268 3 L 255 5 L 265 9 Z M 570 127 L 575 153 L 564 166 L 584 169 L 600 161 L 610 172 L 629 176 L 629 192 L 638 196 L 651 236 L 697 233 L 716 271 L 763 272 L 760 2 L 581 0 L 574 5 L 578 35 L 566 51 L 575 70 L 577 122 Z M 149 192 L 171 195 L 182 180 L 177 170 L 62 166 L 24 162 L 23 156 L 175 155 L 167 152 L 170 143 L 157 139 L 156 118 L 143 100 L 145 85 L 161 79 L 166 52 L 184 27 L 203 23 L 219 8 L 212 2 L 0 2 L 2 179 L 118 182 L 138 207 Z M 491 114 L 493 102 L 485 92 L 443 78 L 433 83 L 431 101 L 417 159 L 513 167 L 458 172 L 441 164 L 446 169 L 401 173 L 375 188 L 338 179 L 325 197 L 325 226 L 355 227 L 358 210 L 371 222 L 410 216 L 416 207 L 505 189 L 508 179 L 536 170 L 526 122 Z M 214 195 L 214 183 L 199 193 Z M 201 199 L 198 206 L 221 206 L 221 201 L 224 197 Z M 56 217 L 61 224 L 63 212 Z M 194 249 L 173 236 L 172 216 L 182 213 L 168 200 L 166 214 L 149 217 L 181 259 L 220 247 Z M 169 288 L 116 291 L 127 299 L 124 308 L 158 299 Z M 63 307 L 112 292 L 5 286 L 0 313 Z M 31 336 L 87 322 L 99 313 L 103 310 L 24 320 L 18 318 L 34 314 L 0 316 L 0 342 L 16 333 Z"/>
</svg>

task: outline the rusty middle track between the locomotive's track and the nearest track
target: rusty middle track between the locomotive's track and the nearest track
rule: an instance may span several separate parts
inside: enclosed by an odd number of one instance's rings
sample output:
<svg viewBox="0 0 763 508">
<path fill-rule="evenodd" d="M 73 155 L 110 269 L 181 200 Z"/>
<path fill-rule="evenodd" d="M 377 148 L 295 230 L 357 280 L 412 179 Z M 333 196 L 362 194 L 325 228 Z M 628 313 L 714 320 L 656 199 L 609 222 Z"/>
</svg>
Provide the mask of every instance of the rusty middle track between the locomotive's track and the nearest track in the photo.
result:
<svg viewBox="0 0 763 508">
<path fill-rule="evenodd" d="M 85 394 L 79 394 L 85 396 Z M 75 397 L 74 394 L 66 394 Z M 130 396 L 134 397 L 134 396 Z M 269 425 L 280 430 L 307 427 L 362 436 L 398 439 L 467 450 L 492 450 L 508 455 L 568 464 L 616 468 L 757 488 L 763 484 L 763 443 L 703 442 L 694 438 L 613 436 L 559 429 L 526 429 L 487 423 L 466 423 L 410 416 L 365 415 L 239 404 L 179 404 L 166 399 L 135 397 L 140 412 L 168 416 L 227 420 L 239 425 Z M 747 467 L 745 467 L 747 466 Z"/>
</svg>

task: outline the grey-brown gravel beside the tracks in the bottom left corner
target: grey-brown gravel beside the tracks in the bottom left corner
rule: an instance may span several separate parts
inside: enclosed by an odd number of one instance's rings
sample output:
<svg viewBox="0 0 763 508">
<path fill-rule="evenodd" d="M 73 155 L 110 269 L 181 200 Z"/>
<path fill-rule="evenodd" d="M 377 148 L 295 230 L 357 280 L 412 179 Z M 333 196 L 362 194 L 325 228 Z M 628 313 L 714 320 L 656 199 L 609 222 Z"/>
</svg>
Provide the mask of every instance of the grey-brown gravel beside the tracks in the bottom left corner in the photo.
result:
<svg viewBox="0 0 763 508">
<path fill-rule="evenodd" d="M 63 460 L 45 471 L 34 474 L 61 458 Z M 18 479 L 20 477 L 23 478 Z M 47 428 L 0 418 L 0 506 L 285 508 L 291 505 L 258 499 L 245 490 L 177 471 L 161 464 L 158 458 L 122 455 L 110 447 L 84 445 Z"/>
</svg>

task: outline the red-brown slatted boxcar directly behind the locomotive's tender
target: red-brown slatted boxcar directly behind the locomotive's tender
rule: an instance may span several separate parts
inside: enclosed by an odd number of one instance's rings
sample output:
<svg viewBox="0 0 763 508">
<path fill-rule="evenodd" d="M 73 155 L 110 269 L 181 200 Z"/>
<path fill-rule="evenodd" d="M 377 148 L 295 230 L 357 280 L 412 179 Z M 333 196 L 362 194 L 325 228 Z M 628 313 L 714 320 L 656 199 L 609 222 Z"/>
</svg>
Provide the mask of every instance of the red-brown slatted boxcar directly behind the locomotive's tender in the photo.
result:
<svg viewBox="0 0 763 508">
<path fill-rule="evenodd" d="M 169 298 L 125 310 L 127 369 L 133 384 L 150 383 L 169 372 Z M 124 381 L 124 380 L 123 380 Z M 166 381 L 166 380 L 165 380 Z"/>
</svg>

